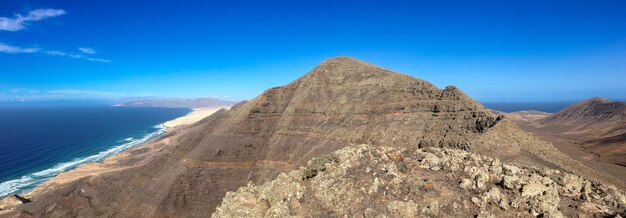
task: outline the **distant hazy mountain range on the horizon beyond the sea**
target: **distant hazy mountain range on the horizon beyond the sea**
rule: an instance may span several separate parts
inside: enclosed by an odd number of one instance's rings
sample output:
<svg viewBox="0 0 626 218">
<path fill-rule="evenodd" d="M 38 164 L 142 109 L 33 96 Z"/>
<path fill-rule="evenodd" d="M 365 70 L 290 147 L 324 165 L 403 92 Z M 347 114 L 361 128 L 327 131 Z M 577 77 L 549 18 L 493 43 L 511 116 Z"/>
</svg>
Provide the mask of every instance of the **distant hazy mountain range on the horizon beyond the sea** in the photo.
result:
<svg viewBox="0 0 626 218">
<path fill-rule="evenodd" d="M 174 108 L 201 108 L 216 106 L 232 106 L 237 102 L 223 101 L 216 98 L 196 98 L 196 99 L 145 99 L 131 100 L 116 103 L 114 106 L 122 107 L 174 107 Z"/>
</svg>

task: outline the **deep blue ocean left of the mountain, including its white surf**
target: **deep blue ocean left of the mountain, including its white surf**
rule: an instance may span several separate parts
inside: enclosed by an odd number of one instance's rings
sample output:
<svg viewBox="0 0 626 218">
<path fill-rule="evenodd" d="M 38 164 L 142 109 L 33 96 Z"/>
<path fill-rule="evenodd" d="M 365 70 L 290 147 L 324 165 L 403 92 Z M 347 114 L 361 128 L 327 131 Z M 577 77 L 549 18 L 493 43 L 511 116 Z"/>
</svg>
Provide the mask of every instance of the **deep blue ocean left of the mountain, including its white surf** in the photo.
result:
<svg viewBox="0 0 626 218">
<path fill-rule="evenodd" d="M 163 134 L 185 108 L 0 105 L 0 198 Z"/>
</svg>

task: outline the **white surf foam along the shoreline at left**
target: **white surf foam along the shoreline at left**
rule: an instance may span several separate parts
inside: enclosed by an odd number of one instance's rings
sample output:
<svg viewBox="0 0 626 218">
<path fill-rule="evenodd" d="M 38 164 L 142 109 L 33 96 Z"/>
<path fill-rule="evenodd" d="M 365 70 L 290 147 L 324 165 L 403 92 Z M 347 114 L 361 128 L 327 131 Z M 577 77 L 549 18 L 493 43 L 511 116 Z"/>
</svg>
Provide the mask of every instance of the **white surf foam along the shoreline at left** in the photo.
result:
<svg viewBox="0 0 626 218">
<path fill-rule="evenodd" d="M 154 139 L 162 135 L 165 132 L 163 124 L 157 125 L 155 126 L 155 128 L 158 128 L 158 130 L 144 136 L 143 138 L 140 138 L 140 139 L 133 139 L 132 137 L 127 138 L 126 139 L 126 141 L 128 141 L 127 143 L 115 146 L 105 151 L 101 151 L 97 154 L 94 154 L 88 157 L 83 157 L 83 158 L 76 158 L 69 162 L 59 163 L 51 168 L 22 176 L 22 178 L 2 182 L 0 183 L 0 198 L 3 198 L 11 194 L 27 192 L 43 184 L 44 182 L 48 181 L 49 179 L 58 175 L 59 173 L 74 169 L 80 166 L 81 164 L 102 161 L 106 159 L 107 157 L 120 153 L 132 146 L 144 143 L 150 139 Z"/>
</svg>

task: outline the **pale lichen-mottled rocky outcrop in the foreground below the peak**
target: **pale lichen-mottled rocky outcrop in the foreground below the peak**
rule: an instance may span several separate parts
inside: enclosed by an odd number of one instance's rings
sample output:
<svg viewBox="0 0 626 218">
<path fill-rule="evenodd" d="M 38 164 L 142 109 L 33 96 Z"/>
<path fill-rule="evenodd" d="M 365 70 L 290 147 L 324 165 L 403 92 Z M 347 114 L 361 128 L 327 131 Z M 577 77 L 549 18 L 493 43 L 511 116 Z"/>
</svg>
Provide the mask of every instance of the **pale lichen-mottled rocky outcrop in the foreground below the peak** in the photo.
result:
<svg viewBox="0 0 626 218">
<path fill-rule="evenodd" d="M 358 145 L 228 192 L 213 217 L 624 217 L 615 186 L 446 149 Z"/>
</svg>

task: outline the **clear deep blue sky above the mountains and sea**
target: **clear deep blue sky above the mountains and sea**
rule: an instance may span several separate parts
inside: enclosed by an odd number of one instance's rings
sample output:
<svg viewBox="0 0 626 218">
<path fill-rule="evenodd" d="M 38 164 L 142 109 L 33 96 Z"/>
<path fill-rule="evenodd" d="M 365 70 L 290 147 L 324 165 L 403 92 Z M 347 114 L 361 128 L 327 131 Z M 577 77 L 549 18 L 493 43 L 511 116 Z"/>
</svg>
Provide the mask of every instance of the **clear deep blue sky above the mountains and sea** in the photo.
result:
<svg viewBox="0 0 626 218">
<path fill-rule="evenodd" d="M 483 102 L 626 99 L 626 1 L 0 0 L 0 101 L 244 100 L 344 55 Z"/>
</svg>

